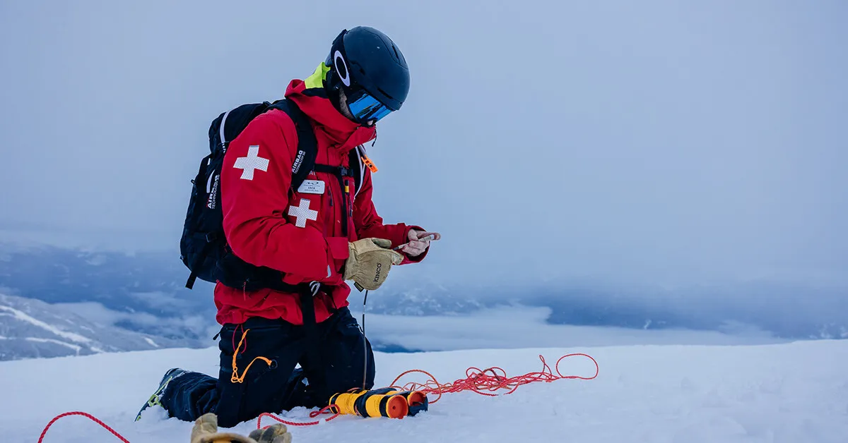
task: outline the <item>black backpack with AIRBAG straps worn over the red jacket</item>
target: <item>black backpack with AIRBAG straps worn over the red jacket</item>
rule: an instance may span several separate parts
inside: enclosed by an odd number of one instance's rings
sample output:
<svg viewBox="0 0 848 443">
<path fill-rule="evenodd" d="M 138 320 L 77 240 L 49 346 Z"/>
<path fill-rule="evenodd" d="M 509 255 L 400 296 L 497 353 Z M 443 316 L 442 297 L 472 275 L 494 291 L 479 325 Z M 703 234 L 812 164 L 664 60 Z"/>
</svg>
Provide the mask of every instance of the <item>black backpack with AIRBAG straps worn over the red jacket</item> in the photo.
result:
<svg viewBox="0 0 848 443">
<path fill-rule="evenodd" d="M 224 163 L 224 154 L 230 141 L 242 133 L 248 123 L 259 114 L 271 109 L 280 109 L 292 119 L 298 133 L 298 154 L 292 166 L 292 186 L 297 190 L 311 171 L 335 174 L 338 180 L 344 176 L 353 177 L 355 191 L 360 189 L 363 174 L 361 156 L 364 147 L 350 150 L 350 168 L 331 167 L 315 164 L 318 152 L 315 133 L 310 119 L 290 100 L 243 104 L 222 113 L 209 125 L 209 155 L 200 162 L 197 176 L 192 180 L 192 194 L 188 202 L 186 222 L 180 239 L 180 259 L 191 271 L 186 287 L 192 289 L 194 282 L 200 280 L 255 291 L 259 288 L 272 288 L 279 291 L 296 291 L 293 285 L 282 283 L 282 272 L 271 268 L 258 267 L 237 257 L 227 245 L 223 229 L 224 215 L 220 208 L 220 169 Z M 282 210 L 283 208 L 281 208 Z M 347 212 L 349 209 L 344 208 Z M 347 219 L 345 219 L 345 222 Z M 347 223 L 343 224 L 343 233 L 347 235 Z"/>
</svg>

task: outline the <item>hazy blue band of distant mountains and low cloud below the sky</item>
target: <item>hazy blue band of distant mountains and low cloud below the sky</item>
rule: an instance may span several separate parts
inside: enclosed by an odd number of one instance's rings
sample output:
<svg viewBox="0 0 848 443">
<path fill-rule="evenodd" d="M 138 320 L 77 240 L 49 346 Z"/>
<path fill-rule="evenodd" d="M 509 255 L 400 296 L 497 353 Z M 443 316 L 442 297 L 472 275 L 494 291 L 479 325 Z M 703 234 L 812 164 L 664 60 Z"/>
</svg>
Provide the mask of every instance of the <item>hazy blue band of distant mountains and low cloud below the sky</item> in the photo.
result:
<svg viewBox="0 0 848 443">
<path fill-rule="evenodd" d="M 141 334 L 160 346 L 213 346 L 210 339 L 220 328 L 215 323 L 213 285 L 198 280 L 193 291 L 187 290 L 184 283 L 188 272 L 178 255 L 174 251 L 126 253 L 0 241 L 0 293 L 53 303 L 50 309 L 40 307 L 52 316 L 73 313 L 92 324 L 112 328 L 96 329 L 103 333 L 120 330 Z M 411 275 L 418 280 L 411 280 Z M 485 281 L 448 285 L 438 276 L 406 274 L 388 280 L 379 291 L 371 291 L 365 309 L 386 315 L 462 316 L 517 304 L 550 307 L 546 320 L 550 324 L 728 332 L 758 329 L 792 339 L 848 338 L 848 291 L 840 287 L 773 281 L 678 289 L 622 288 L 593 281 L 519 283 L 513 287 Z M 350 296 L 354 313 L 361 309 L 362 296 L 358 291 Z M 20 321 L 8 310 L 4 313 L 0 321 Z M 73 332 L 97 340 L 86 335 L 90 331 Z M 83 353 L 96 352 L 92 346 L 67 337 L 26 333 L 8 337 L 14 339 L 0 339 L 3 355 L 65 355 L 76 352 L 75 346 Z M 33 347 L 36 343 L 38 346 Z M 142 346 L 137 341 L 132 343 L 114 348 Z M 109 349 L 109 344 L 106 340 L 102 349 Z M 28 346 L 30 351 L 24 351 Z"/>
</svg>

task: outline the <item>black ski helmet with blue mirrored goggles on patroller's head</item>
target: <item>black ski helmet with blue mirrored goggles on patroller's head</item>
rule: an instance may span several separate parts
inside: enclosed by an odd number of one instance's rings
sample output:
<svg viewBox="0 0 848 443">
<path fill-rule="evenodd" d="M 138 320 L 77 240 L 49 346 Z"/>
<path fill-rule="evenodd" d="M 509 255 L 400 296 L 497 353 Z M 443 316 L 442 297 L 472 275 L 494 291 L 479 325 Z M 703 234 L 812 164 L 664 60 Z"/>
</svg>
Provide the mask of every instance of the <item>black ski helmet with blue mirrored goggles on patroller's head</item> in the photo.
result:
<svg viewBox="0 0 848 443">
<path fill-rule="evenodd" d="M 374 28 L 343 30 L 332 42 L 324 64 L 331 68 L 326 76 L 327 88 L 344 91 L 348 108 L 360 124 L 397 111 L 410 91 L 410 70 L 404 54 Z M 338 96 L 338 92 L 333 95 Z"/>
</svg>

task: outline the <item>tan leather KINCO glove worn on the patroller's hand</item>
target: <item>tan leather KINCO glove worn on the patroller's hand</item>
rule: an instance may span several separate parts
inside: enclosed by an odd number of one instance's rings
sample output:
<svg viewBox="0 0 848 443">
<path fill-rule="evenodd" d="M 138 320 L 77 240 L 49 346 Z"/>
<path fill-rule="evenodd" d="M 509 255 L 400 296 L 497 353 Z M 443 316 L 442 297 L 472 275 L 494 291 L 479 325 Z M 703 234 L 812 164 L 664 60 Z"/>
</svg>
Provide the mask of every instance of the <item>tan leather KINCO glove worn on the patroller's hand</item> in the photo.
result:
<svg viewBox="0 0 848 443">
<path fill-rule="evenodd" d="M 392 242 L 382 238 L 365 238 L 348 246 L 350 257 L 344 264 L 344 280 L 354 280 L 367 290 L 379 288 L 392 265 L 404 261 L 404 256 L 392 251 Z"/>
</svg>

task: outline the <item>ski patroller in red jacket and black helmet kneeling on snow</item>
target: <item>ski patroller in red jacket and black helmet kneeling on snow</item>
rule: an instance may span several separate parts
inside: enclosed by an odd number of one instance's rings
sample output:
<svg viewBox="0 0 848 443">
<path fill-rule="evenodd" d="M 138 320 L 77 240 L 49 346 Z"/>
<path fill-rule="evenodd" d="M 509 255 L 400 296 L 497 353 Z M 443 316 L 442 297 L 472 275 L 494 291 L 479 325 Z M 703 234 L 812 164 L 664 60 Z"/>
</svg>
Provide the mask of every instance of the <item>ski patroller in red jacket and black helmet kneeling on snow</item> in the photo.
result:
<svg viewBox="0 0 848 443">
<path fill-rule="evenodd" d="M 220 426 L 231 428 L 260 413 L 324 407 L 335 393 L 373 387 L 371 345 L 350 314 L 344 280 L 377 289 L 393 265 L 420 262 L 430 239 L 440 235 L 382 223 L 371 201 L 374 169 L 364 150 L 359 177 L 317 165 L 349 168 L 350 158 L 357 158 L 351 150 L 373 140 L 377 120 L 400 108 L 409 79 L 388 36 L 357 27 L 339 34 L 313 75 L 292 80 L 285 97 L 308 117 L 318 145 L 315 170 L 297 191 L 289 188 L 293 165 L 302 158 L 289 114 L 260 114 L 232 141 L 220 173 L 232 253 L 282 272 L 285 285 L 310 291 L 218 281 L 218 378 L 172 368 L 145 407 L 161 405 L 169 417 L 186 421 L 215 413 Z"/>
</svg>

